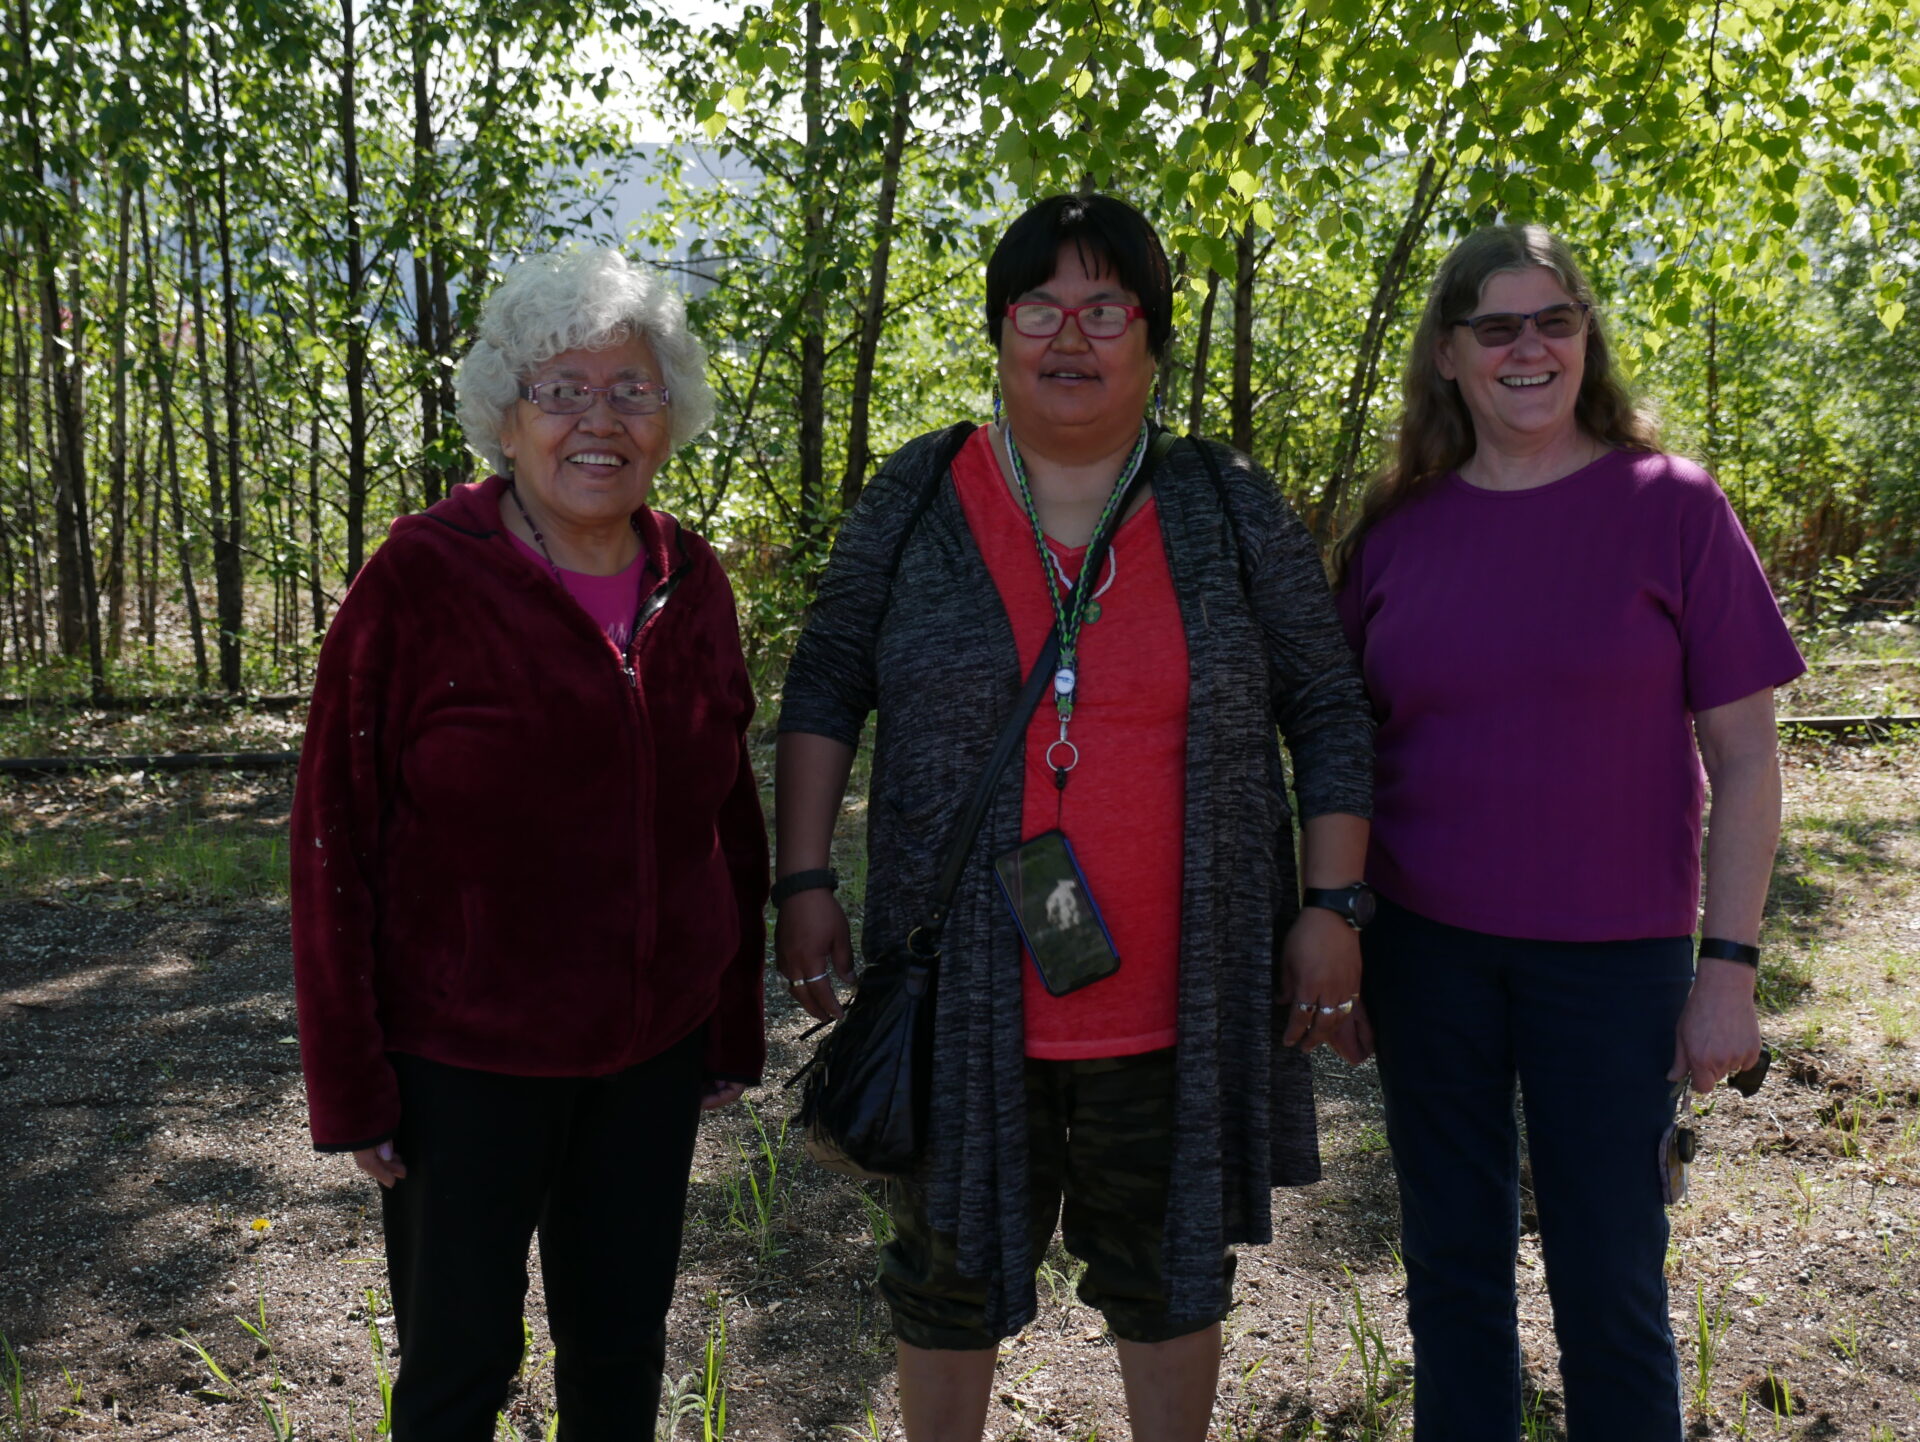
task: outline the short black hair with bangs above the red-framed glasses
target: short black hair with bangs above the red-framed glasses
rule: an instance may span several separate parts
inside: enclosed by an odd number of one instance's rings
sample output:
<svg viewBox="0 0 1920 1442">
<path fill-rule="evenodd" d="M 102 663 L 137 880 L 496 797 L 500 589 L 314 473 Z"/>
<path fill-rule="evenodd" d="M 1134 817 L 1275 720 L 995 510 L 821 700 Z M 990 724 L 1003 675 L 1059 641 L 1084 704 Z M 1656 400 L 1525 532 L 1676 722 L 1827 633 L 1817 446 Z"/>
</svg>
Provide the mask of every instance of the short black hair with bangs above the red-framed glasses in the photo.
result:
<svg viewBox="0 0 1920 1442">
<path fill-rule="evenodd" d="M 1114 196 L 1048 196 L 1006 227 L 987 259 L 987 336 L 1000 349 L 1006 307 L 1044 286 L 1062 246 L 1079 250 L 1087 275 L 1108 271 L 1140 298 L 1146 346 L 1156 361 L 1173 340 L 1173 273 L 1152 223 Z"/>
</svg>

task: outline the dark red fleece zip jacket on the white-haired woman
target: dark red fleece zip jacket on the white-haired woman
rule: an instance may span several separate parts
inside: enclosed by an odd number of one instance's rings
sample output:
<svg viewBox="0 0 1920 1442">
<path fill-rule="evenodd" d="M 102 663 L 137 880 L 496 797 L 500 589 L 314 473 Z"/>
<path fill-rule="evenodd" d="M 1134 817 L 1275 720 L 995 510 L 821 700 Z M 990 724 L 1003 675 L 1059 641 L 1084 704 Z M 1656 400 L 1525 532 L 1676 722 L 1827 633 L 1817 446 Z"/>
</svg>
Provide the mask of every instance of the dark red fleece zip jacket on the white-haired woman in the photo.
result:
<svg viewBox="0 0 1920 1442">
<path fill-rule="evenodd" d="M 766 1060 L 753 691 L 708 545 L 637 513 L 630 647 L 516 553 L 505 482 L 401 517 L 326 634 L 292 820 L 313 1142 L 399 1123 L 388 1052 L 605 1075 L 707 1023 Z"/>
</svg>

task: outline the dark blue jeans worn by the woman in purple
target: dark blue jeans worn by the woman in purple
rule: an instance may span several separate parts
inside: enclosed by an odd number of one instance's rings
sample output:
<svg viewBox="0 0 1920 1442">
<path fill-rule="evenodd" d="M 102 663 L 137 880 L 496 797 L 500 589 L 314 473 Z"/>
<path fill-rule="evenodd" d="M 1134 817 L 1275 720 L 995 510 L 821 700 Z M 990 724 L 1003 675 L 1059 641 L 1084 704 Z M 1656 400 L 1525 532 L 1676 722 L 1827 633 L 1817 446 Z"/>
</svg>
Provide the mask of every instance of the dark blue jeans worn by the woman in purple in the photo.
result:
<svg viewBox="0 0 1920 1442">
<path fill-rule="evenodd" d="M 1690 939 L 1521 941 L 1382 904 L 1365 958 L 1400 1175 L 1417 1442 L 1521 1434 L 1515 1081 L 1569 1442 L 1678 1442 L 1657 1158 Z"/>
</svg>

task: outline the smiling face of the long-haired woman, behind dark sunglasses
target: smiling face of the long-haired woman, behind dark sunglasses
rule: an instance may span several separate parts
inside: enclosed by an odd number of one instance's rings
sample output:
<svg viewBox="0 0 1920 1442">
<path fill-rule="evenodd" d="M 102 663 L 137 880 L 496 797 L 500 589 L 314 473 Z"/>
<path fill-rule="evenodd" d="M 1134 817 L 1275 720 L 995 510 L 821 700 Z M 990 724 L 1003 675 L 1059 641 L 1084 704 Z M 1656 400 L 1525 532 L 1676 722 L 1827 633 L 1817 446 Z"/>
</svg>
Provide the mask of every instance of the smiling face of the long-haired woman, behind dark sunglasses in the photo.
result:
<svg viewBox="0 0 1920 1442">
<path fill-rule="evenodd" d="M 1571 300 L 1553 271 L 1532 265 L 1490 276 L 1473 313 L 1528 315 Z M 1482 346 L 1467 326 L 1448 328 L 1434 361 L 1459 386 L 1480 449 L 1538 451 L 1578 436 L 1574 405 L 1586 376 L 1588 334 L 1546 340 L 1526 324 L 1509 346 Z"/>
</svg>

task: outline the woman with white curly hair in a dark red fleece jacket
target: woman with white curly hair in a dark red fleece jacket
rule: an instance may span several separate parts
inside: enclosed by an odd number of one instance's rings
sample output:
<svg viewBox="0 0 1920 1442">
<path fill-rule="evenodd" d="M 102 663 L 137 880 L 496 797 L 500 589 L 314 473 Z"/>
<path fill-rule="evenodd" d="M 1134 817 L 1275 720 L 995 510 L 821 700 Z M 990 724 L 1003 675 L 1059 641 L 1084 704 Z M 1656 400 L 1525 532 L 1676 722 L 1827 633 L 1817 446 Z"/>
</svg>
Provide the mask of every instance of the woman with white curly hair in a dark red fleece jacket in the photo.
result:
<svg viewBox="0 0 1920 1442">
<path fill-rule="evenodd" d="M 766 833 L 733 597 L 647 507 L 707 424 L 678 296 L 536 255 L 459 373 L 497 474 L 401 517 L 294 801 L 313 1144 L 382 1187 L 399 1442 L 484 1442 L 538 1233 L 561 1436 L 651 1434 L 703 1108 L 758 1081 Z"/>
</svg>

